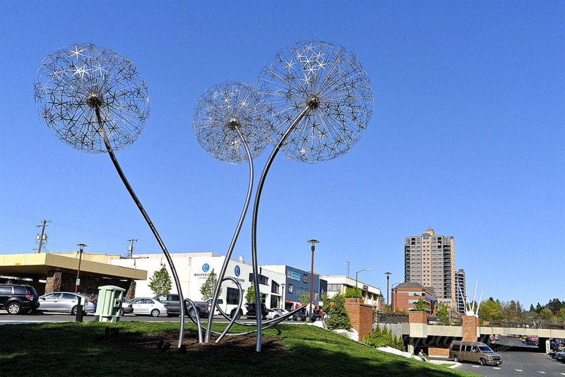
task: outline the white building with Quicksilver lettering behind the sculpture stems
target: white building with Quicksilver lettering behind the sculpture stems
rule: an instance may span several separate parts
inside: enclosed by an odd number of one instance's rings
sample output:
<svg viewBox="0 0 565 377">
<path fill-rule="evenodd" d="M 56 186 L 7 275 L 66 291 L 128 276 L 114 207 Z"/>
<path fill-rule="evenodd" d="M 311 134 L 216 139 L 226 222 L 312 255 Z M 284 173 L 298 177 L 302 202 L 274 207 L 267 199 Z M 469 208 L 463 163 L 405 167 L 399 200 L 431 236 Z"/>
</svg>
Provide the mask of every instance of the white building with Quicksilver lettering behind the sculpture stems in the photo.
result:
<svg viewBox="0 0 565 377">
<path fill-rule="evenodd" d="M 172 253 L 171 258 L 174 263 L 174 268 L 179 275 L 184 297 L 193 301 L 203 301 L 200 292 L 202 285 L 206 282 L 206 279 L 208 279 L 208 276 L 213 270 L 216 275 L 220 273 L 225 260 L 225 256 L 217 253 Z M 136 297 L 155 296 L 149 288 L 149 279 L 153 277 L 153 273 L 160 270 L 162 266 L 167 268 L 171 280 L 173 280 L 169 263 L 167 263 L 167 259 L 162 253 L 137 254 L 131 259 L 111 259 L 108 263 L 122 267 L 140 268 L 147 271 L 148 280 L 136 280 Z M 245 297 L 247 289 L 253 284 L 251 280 L 252 274 L 253 267 L 251 263 L 244 262 L 243 258 L 232 258 L 228 264 L 225 277 L 232 277 L 234 280 L 237 280 L 237 282 L 242 285 L 243 297 Z M 283 288 L 281 285 L 285 282 L 285 274 L 259 267 L 259 275 L 261 301 L 263 301 L 268 308 L 280 307 L 283 297 Z M 174 281 L 171 292 L 177 293 L 177 287 L 174 285 Z M 239 301 L 239 291 L 234 282 L 231 280 L 223 282 L 220 297 L 223 299 L 222 309 L 224 310 L 227 309 L 227 305 L 237 304 Z"/>
</svg>

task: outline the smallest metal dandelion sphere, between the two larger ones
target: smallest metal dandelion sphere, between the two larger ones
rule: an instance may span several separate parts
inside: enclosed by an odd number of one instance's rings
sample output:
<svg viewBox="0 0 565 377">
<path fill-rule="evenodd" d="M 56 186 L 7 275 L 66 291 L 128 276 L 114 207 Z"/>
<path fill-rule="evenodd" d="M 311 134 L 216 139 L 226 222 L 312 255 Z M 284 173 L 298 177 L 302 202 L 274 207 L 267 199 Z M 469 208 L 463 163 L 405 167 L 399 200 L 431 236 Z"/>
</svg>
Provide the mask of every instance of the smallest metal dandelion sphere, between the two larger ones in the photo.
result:
<svg viewBox="0 0 565 377">
<path fill-rule="evenodd" d="M 214 85 L 194 109 L 192 126 L 196 140 L 210 156 L 231 164 L 246 162 L 246 143 L 252 157 L 268 145 L 269 124 L 265 98 L 245 83 L 228 81 Z"/>
</svg>

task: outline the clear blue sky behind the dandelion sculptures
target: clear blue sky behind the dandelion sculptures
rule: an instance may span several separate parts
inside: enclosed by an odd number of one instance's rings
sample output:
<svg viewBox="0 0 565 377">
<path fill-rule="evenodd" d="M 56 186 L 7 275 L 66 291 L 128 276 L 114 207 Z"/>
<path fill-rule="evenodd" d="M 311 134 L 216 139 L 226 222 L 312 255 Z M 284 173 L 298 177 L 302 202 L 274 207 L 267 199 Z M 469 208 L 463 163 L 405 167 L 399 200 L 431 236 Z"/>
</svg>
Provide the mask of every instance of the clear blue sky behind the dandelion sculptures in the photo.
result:
<svg viewBox="0 0 565 377">
<path fill-rule="evenodd" d="M 0 253 L 160 252 L 107 155 L 73 150 L 37 115 L 32 83 L 53 49 L 94 42 L 148 83 L 151 114 L 117 157 L 172 252 L 225 253 L 246 165 L 214 160 L 191 126 L 225 80 L 254 84 L 278 49 L 336 42 L 371 77 L 369 128 L 343 157 L 282 155 L 259 212 L 261 264 L 386 287 L 403 281 L 404 237 L 455 237 L 456 268 L 484 298 L 565 299 L 563 1 L 2 1 Z M 261 172 L 270 149 L 256 160 Z M 251 260 L 250 220 L 234 256 Z"/>
</svg>

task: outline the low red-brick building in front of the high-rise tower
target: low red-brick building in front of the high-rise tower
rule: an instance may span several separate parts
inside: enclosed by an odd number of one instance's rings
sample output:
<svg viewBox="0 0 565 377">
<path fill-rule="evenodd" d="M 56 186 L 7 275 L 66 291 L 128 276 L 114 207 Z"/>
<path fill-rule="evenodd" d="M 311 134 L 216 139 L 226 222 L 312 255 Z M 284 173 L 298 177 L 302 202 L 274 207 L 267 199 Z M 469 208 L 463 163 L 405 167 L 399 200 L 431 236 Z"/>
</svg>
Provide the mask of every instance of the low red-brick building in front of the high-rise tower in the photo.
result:
<svg viewBox="0 0 565 377">
<path fill-rule="evenodd" d="M 436 311 L 437 297 L 432 287 L 424 287 L 419 282 L 403 282 L 391 289 L 392 311 L 414 311 L 420 299 L 424 312 L 433 316 Z"/>
</svg>

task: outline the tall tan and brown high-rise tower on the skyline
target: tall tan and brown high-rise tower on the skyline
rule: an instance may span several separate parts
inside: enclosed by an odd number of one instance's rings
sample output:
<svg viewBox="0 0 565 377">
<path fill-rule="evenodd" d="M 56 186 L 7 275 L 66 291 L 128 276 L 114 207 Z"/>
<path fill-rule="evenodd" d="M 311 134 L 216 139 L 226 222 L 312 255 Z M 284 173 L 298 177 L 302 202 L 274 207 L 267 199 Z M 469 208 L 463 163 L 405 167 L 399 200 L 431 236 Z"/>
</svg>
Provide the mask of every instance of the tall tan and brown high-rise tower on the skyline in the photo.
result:
<svg viewBox="0 0 565 377">
<path fill-rule="evenodd" d="M 439 304 L 457 310 L 455 297 L 455 240 L 426 229 L 404 239 L 404 281 L 434 288 Z"/>
</svg>

